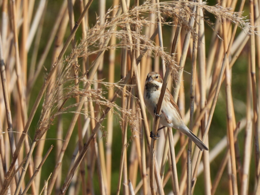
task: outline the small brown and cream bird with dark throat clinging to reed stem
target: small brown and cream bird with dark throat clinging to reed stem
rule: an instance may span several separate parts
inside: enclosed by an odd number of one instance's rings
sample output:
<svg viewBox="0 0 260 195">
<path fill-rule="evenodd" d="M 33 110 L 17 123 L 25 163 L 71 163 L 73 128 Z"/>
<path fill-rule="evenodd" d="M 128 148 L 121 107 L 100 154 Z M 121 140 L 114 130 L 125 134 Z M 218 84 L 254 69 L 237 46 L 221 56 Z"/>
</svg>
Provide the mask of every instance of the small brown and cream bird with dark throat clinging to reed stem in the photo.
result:
<svg viewBox="0 0 260 195">
<path fill-rule="evenodd" d="M 144 102 L 147 110 L 151 115 L 157 115 L 160 117 L 160 124 L 162 127 L 159 128 L 158 131 L 165 127 L 173 127 L 174 129 L 177 129 L 187 135 L 201 151 L 203 151 L 203 149 L 209 150 L 207 146 L 185 125 L 181 118 L 180 110 L 168 88 L 166 88 L 164 100 L 162 101 L 161 115 L 156 113 L 162 82 L 163 81 L 159 73 L 150 72 L 147 74 L 144 87 Z M 153 139 L 158 139 L 159 136 L 159 134 L 154 135 L 152 132 L 150 134 L 150 137 Z"/>
</svg>

